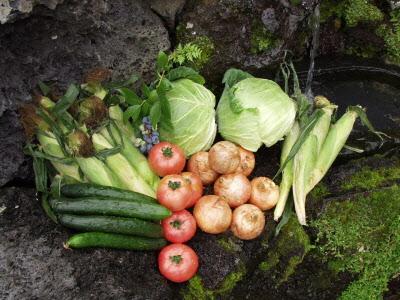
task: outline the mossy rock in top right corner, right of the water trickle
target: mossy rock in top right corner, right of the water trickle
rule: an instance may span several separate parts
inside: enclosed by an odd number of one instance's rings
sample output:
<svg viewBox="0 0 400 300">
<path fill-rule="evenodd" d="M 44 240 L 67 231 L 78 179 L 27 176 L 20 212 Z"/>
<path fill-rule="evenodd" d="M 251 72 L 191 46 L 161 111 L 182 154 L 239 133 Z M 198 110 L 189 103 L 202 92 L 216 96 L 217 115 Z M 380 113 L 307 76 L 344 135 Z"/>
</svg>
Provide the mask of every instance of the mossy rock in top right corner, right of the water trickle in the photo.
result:
<svg viewBox="0 0 400 300">
<path fill-rule="evenodd" d="M 345 54 L 379 57 L 388 63 L 400 64 L 399 8 L 391 10 L 373 0 L 323 0 L 321 23 L 324 52 L 337 52 L 337 49 L 326 50 L 329 46 L 324 45 L 333 39 L 337 43 L 330 47 L 337 48 L 338 44 L 343 44 L 341 51 Z"/>
</svg>

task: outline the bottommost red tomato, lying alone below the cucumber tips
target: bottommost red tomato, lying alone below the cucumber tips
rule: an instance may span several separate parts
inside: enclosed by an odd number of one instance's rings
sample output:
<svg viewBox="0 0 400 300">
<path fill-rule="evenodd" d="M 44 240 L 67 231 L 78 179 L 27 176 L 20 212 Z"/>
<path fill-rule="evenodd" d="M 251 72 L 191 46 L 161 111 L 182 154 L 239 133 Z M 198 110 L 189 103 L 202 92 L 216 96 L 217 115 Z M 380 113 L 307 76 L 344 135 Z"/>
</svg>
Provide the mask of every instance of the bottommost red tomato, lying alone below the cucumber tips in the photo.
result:
<svg viewBox="0 0 400 300">
<path fill-rule="evenodd" d="M 192 248 L 184 244 L 171 244 L 158 255 L 160 273 L 173 282 L 192 278 L 199 268 L 199 258 Z"/>
</svg>

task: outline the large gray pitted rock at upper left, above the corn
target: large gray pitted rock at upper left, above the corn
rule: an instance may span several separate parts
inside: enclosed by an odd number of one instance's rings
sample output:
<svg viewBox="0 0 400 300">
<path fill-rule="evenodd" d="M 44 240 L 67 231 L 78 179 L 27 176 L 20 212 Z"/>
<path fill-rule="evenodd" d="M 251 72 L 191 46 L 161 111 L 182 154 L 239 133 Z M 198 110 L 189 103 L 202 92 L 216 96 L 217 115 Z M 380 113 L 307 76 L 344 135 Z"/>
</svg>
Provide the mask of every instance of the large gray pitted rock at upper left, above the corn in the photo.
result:
<svg viewBox="0 0 400 300">
<path fill-rule="evenodd" d="M 0 32 L 0 115 L 30 99 L 39 80 L 62 87 L 78 82 L 93 67 L 115 78 L 145 77 L 160 50 L 170 47 L 162 21 L 142 1 L 68 1 L 50 10 L 35 8 L 29 18 L 5 24 Z"/>
</svg>

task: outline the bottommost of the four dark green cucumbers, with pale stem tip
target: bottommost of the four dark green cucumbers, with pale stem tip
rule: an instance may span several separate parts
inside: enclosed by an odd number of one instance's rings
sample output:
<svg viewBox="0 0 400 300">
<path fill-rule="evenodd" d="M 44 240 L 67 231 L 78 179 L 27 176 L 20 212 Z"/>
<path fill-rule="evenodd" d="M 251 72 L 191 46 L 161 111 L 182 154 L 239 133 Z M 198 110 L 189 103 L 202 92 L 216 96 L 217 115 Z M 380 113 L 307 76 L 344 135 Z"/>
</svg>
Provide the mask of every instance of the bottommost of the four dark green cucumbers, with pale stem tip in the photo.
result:
<svg viewBox="0 0 400 300">
<path fill-rule="evenodd" d="M 85 232 L 71 236 L 67 248 L 103 247 L 127 250 L 157 250 L 167 244 L 164 239 L 150 239 L 105 232 Z"/>
</svg>

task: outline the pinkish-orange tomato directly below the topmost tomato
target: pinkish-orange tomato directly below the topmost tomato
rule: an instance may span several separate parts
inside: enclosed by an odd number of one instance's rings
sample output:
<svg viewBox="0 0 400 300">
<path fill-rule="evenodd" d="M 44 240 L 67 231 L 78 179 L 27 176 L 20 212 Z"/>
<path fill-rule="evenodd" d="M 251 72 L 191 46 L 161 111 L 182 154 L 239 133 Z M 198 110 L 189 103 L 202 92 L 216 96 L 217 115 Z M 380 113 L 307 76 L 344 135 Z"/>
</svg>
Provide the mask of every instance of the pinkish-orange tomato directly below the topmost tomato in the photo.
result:
<svg viewBox="0 0 400 300">
<path fill-rule="evenodd" d="M 189 183 L 181 175 L 165 176 L 157 188 L 158 202 L 172 211 L 185 209 L 191 194 Z"/>
</svg>

